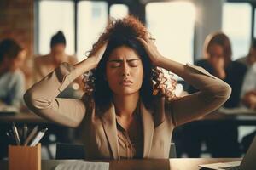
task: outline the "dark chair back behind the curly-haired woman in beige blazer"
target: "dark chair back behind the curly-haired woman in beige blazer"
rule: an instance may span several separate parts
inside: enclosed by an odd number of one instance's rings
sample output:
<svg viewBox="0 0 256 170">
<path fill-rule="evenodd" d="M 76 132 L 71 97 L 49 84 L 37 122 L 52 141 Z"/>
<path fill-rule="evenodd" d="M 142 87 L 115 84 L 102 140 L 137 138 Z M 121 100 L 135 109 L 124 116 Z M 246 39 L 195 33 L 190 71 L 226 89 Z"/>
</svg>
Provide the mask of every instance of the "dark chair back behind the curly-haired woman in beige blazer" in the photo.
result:
<svg viewBox="0 0 256 170">
<path fill-rule="evenodd" d="M 174 143 L 171 143 L 169 158 L 177 158 Z M 55 159 L 84 159 L 84 144 L 57 143 Z"/>
</svg>

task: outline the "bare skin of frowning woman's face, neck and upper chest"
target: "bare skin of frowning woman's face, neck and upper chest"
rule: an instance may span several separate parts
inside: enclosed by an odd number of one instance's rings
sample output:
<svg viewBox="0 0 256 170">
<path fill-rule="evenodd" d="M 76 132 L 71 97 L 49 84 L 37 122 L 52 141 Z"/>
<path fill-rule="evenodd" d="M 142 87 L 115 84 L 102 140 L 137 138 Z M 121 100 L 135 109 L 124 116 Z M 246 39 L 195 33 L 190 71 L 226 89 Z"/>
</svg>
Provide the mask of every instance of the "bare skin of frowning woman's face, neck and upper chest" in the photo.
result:
<svg viewBox="0 0 256 170">
<path fill-rule="evenodd" d="M 136 125 L 132 114 L 143 84 L 143 64 L 140 56 L 126 46 L 115 48 L 108 58 L 106 79 L 113 92 L 119 123 L 129 130 L 132 125 Z"/>
</svg>

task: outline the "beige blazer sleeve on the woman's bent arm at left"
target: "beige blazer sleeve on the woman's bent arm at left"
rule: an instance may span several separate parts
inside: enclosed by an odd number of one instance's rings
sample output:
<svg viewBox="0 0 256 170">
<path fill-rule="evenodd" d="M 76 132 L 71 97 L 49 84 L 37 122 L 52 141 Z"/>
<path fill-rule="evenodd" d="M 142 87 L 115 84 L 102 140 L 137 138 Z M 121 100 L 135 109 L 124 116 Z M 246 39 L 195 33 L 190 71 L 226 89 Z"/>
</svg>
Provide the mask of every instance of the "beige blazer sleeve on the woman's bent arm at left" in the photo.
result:
<svg viewBox="0 0 256 170">
<path fill-rule="evenodd" d="M 55 71 L 35 83 L 24 94 L 30 110 L 50 121 L 68 127 L 78 127 L 85 115 L 85 105 L 80 99 L 57 98 L 73 80 L 79 77 L 72 65 L 62 63 Z"/>
</svg>

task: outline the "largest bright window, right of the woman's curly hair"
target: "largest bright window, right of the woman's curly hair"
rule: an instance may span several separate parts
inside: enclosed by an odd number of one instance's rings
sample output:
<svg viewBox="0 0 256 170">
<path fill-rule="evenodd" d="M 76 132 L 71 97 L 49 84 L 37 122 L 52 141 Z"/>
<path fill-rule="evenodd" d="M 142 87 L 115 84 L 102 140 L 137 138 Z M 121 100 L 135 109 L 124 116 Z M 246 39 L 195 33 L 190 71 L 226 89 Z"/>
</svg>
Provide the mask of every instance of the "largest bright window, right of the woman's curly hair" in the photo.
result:
<svg viewBox="0 0 256 170">
<path fill-rule="evenodd" d="M 146 22 L 161 54 L 184 64 L 193 63 L 195 30 L 193 3 L 148 3 Z"/>
</svg>

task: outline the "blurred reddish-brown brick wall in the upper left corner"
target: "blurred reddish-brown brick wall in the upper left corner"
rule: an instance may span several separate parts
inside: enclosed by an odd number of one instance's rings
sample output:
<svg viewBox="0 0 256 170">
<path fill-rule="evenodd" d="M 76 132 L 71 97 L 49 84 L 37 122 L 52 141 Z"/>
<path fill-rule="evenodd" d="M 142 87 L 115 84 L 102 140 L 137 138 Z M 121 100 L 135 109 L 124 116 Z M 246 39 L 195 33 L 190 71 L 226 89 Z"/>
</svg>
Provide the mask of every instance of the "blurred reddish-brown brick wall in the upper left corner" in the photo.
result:
<svg viewBox="0 0 256 170">
<path fill-rule="evenodd" d="M 0 41 L 14 38 L 27 52 L 27 86 L 30 85 L 29 60 L 33 54 L 33 0 L 0 0 Z"/>
</svg>

